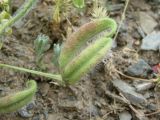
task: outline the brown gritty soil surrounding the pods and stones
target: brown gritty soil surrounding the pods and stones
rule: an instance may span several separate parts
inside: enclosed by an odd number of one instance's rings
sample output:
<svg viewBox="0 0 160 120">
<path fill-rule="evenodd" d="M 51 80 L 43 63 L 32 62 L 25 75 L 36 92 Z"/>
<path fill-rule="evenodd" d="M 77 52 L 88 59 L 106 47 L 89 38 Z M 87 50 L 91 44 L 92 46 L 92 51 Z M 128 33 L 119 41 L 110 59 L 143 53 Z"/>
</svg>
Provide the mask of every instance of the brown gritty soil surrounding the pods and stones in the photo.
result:
<svg viewBox="0 0 160 120">
<path fill-rule="evenodd" d="M 157 0 L 158 1 L 158 0 Z M 160 30 L 160 6 L 155 0 L 133 0 L 130 2 L 126 19 L 117 36 L 117 46 L 86 76 L 75 85 L 61 87 L 52 80 L 21 73 L 9 69 L 0 69 L 0 96 L 20 91 L 25 88 L 29 79 L 38 83 L 38 91 L 32 101 L 32 109 L 22 116 L 19 112 L 1 114 L 0 120 L 119 120 L 120 113 L 128 111 L 133 120 L 140 118 L 131 108 L 130 104 L 120 101 L 114 95 L 120 96 L 120 92 L 112 84 L 113 79 L 121 79 L 133 86 L 138 79 L 129 79 L 121 73 L 126 73 L 128 66 L 136 63 L 138 59 L 144 59 L 150 66 L 160 62 L 158 51 L 143 51 L 140 49 L 142 36 L 138 32 L 138 12 L 149 13 L 157 21 L 156 30 Z M 121 4 L 122 7 L 109 12 L 111 18 L 120 23 L 121 14 L 124 9 L 124 0 L 110 0 L 112 5 Z M 23 3 L 14 0 L 12 12 Z M 52 15 L 55 2 L 52 0 L 39 0 L 37 5 L 28 15 L 13 27 L 13 34 L 7 36 L 0 50 L 0 62 L 10 65 L 21 66 L 29 69 L 37 69 L 35 62 L 34 40 L 40 34 L 46 34 L 50 38 L 50 49 L 45 53 L 44 64 L 47 72 L 57 72 L 51 63 L 52 47 L 54 43 L 61 43 L 68 35 L 68 29 L 75 31 L 79 26 L 89 21 L 91 17 L 92 1 L 87 1 L 86 8 L 82 11 L 73 10 L 66 19 L 62 18 L 59 26 L 53 23 Z M 68 22 L 70 21 L 70 23 Z M 125 87 L 125 86 L 124 86 Z M 157 106 L 156 110 L 134 106 L 135 110 L 144 114 L 144 120 L 159 120 L 159 87 L 144 91 L 143 94 L 153 94 L 148 102 Z M 155 97 L 156 96 L 156 97 Z M 28 106 L 28 105 L 27 105 Z M 153 115 L 147 115 L 157 112 Z M 121 119 L 122 120 L 122 119 Z M 130 119 L 127 119 L 130 120 Z"/>
</svg>

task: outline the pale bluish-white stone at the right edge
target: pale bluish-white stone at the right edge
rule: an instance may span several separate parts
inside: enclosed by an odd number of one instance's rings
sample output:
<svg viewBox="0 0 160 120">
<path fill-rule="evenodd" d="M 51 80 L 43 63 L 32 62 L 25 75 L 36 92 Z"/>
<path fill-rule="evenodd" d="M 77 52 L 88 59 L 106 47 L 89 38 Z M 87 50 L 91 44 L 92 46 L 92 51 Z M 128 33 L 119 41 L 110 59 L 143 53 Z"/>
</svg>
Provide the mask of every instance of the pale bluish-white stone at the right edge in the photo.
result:
<svg viewBox="0 0 160 120">
<path fill-rule="evenodd" d="M 142 50 L 160 50 L 160 32 L 152 32 L 142 40 Z"/>
</svg>

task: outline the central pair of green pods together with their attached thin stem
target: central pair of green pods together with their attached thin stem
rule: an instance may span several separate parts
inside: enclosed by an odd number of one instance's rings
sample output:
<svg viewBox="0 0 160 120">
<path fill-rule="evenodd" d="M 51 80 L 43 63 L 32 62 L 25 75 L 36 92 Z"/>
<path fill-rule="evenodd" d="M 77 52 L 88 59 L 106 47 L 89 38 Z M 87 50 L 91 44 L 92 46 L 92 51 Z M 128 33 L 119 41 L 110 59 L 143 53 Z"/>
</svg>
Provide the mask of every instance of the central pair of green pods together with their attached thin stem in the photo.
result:
<svg viewBox="0 0 160 120">
<path fill-rule="evenodd" d="M 0 67 L 48 77 L 60 85 L 72 85 L 88 73 L 111 48 L 112 36 L 116 29 L 117 24 L 113 19 L 108 17 L 96 19 L 81 26 L 61 47 L 56 45 L 54 53 L 56 53 L 57 62 L 55 63 L 59 68 L 59 74 L 44 73 L 7 64 L 0 64 Z M 85 46 L 88 40 L 106 30 L 109 32 Z"/>
</svg>

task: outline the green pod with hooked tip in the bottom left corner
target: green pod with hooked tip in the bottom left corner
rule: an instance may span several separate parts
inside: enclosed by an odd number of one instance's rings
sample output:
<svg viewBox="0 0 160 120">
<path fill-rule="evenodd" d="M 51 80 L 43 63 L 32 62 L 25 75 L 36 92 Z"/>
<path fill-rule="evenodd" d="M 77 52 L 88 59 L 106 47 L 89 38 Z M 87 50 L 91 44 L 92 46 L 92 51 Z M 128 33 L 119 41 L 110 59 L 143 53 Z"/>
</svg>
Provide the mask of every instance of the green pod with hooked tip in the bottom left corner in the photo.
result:
<svg viewBox="0 0 160 120">
<path fill-rule="evenodd" d="M 31 101 L 37 90 L 34 80 L 27 82 L 28 89 L 0 98 L 0 113 L 16 111 Z"/>
</svg>

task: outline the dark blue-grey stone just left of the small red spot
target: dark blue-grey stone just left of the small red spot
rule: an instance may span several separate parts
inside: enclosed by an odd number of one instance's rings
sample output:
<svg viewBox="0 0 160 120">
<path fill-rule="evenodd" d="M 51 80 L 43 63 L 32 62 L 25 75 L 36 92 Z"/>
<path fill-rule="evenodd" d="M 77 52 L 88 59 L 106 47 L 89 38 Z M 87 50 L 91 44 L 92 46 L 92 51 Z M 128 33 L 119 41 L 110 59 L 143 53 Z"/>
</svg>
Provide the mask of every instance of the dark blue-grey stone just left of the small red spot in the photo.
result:
<svg viewBox="0 0 160 120">
<path fill-rule="evenodd" d="M 151 67 L 140 59 L 137 63 L 127 68 L 127 74 L 134 77 L 147 77 L 148 72 L 152 71 Z"/>
</svg>

